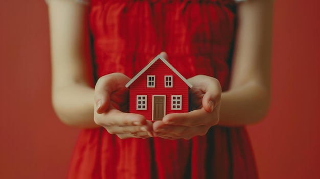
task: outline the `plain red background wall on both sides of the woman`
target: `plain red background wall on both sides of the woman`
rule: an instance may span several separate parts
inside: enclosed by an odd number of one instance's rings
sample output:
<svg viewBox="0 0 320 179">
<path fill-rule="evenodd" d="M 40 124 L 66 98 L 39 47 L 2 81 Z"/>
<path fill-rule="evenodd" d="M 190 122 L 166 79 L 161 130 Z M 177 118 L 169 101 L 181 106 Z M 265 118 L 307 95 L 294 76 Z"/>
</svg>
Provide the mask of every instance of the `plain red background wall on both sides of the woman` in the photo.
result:
<svg viewBox="0 0 320 179">
<path fill-rule="evenodd" d="M 320 178 L 320 1 L 275 5 L 272 105 L 249 126 L 261 178 Z M 50 102 L 47 7 L 0 1 L 0 178 L 64 178 L 78 129 Z"/>
</svg>

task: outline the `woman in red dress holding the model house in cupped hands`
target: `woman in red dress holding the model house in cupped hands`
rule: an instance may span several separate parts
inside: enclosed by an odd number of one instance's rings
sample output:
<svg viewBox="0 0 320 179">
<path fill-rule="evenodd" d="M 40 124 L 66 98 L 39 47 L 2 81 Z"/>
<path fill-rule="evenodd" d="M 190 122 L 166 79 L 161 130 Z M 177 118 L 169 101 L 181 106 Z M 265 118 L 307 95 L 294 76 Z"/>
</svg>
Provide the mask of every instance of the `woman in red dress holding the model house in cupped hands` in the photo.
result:
<svg viewBox="0 0 320 179">
<path fill-rule="evenodd" d="M 257 178 L 244 125 L 269 106 L 272 5 L 49 0 L 53 106 L 64 123 L 84 128 L 68 178 Z M 159 52 L 193 85 L 192 111 L 152 123 L 127 113 L 124 86 Z"/>
</svg>

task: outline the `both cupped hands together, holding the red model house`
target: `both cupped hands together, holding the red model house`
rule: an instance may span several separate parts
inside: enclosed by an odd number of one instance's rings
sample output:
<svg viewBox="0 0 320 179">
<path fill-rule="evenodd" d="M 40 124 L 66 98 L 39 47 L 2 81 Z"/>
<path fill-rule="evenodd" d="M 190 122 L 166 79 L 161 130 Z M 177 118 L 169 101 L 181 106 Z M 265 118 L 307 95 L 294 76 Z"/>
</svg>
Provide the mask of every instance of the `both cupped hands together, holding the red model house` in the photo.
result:
<svg viewBox="0 0 320 179">
<path fill-rule="evenodd" d="M 166 53 L 161 55 L 168 59 Z M 197 75 L 189 79 L 193 85 L 188 113 L 172 113 L 162 121 L 149 121 L 140 114 L 128 113 L 130 81 L 122 73 L 102 76 L 95 87 L 95 114 L 98 125 L 121 139 L 161 137 L 165 139 L 191 139 L 205 135 L 219 121 L 221 87 L 218 80 Z"/>
</svg>

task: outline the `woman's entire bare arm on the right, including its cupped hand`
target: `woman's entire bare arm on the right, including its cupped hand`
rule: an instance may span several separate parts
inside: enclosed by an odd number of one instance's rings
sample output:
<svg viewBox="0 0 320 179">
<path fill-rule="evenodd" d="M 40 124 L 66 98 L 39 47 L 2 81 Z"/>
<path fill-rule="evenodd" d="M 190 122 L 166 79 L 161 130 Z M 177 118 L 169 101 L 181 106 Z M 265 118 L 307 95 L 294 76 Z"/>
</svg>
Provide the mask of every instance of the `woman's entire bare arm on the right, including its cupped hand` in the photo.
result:
<svg viewBox="0 0 320 179">
<path fill-rule="evenodd" d="M 237 126 L 258 122 L 270 104 L 272 0 L 248 0 L 238 5 L 239 27 L 230 90 L 204 75 L 188 79 L 189 113 L 166 115 L 153 123 L 156 136 L 190 139 L 205 135 L 213 125 Z"/>
</svg>

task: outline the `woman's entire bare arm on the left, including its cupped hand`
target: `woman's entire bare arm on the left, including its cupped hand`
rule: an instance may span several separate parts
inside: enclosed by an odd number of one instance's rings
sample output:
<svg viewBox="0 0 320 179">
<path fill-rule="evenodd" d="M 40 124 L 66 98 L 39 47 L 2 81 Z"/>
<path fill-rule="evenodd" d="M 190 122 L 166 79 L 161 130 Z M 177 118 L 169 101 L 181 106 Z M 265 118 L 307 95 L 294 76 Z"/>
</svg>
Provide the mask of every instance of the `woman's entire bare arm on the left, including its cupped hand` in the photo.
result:
<svg viewBox="0 0 320 179">
<path fill-rule="evenodd" d="M 52 100 L 59 118 L 73 126 L 103 126 L 122 139 L 153 136 L 151 121 L 139 114 L 123 112 L 128 110 L 129 91 L 125 84 L 130 79 L 127 76 L 104 75 L 95 89 L 90 87 L 85 66 L 87 7 L 72 1 L 48 1 L 48 6 Z"/>
</svg>

